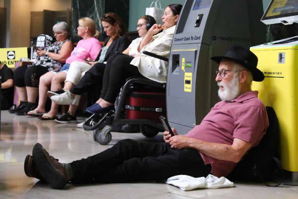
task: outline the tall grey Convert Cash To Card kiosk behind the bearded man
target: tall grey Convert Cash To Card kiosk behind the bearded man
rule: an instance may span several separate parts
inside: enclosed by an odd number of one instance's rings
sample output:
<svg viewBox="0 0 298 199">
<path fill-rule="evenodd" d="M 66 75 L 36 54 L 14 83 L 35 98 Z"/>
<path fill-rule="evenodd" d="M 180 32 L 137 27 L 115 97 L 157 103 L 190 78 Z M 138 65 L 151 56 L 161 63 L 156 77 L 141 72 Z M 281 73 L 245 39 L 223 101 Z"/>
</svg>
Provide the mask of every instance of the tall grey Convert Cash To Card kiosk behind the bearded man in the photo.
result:
<svg viewBox="0 0 298 199">
<path fill-rule="evenodd" d="M 185 134 L 219 101 L 210 60 L 232 45 L 266 42 L 262 0 L 185 0 L 169 56 L 166 110 L 171 127 Z"/>
</svg>

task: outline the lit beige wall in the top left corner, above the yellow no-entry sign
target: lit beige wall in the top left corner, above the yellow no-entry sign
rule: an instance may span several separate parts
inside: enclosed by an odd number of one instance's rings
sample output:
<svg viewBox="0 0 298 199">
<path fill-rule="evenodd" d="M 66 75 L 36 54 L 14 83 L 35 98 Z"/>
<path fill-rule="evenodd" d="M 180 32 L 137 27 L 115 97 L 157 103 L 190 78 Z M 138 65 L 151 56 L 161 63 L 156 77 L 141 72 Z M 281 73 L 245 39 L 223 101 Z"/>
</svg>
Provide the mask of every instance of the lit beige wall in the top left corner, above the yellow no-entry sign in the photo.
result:
<svg viewBox="0 0 298 199">
<path fill-rule="evenodd" d="M 4 0 L 0 0 L 1 3 Z M 30 45 L 30 12 L 71 9 L 72 0 L 10 0 L 9 47 Z"/>
</svg>

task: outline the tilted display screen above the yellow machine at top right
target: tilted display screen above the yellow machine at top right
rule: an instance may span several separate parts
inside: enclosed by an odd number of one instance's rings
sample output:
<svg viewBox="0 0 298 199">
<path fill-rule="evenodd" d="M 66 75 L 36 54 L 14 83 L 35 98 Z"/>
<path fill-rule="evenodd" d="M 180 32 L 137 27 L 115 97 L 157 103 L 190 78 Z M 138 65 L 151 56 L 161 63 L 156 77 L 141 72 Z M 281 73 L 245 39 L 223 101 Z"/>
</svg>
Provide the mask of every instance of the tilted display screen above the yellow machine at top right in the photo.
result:
<svg viewBox="0 0 298 199">
<path fill-rule="evenodd" d="M 262 20 L 298 15 L 298 0 L 272 0 Z"/>
</svg>

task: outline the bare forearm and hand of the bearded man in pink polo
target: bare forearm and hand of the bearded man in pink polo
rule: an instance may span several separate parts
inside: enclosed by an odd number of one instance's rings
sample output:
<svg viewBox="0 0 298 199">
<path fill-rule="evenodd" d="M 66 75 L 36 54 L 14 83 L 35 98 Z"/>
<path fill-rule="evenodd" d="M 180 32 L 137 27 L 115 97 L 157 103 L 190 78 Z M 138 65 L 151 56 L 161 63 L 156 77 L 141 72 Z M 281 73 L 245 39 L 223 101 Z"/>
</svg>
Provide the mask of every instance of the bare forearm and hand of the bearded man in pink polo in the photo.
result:
<svg viewBox="0 0 298 199">
<path fill-rule="evenodd" d="M 251 147 L 249 142 L 237 138 L 234 138 L 232 145 L 228 145 L 206 142 L 185 135 L 177 135 L 169 138 L 169 144 L 171 148 L 196 149 L 212 158 L 231 162 L 239 162 Z"/>
</svg>

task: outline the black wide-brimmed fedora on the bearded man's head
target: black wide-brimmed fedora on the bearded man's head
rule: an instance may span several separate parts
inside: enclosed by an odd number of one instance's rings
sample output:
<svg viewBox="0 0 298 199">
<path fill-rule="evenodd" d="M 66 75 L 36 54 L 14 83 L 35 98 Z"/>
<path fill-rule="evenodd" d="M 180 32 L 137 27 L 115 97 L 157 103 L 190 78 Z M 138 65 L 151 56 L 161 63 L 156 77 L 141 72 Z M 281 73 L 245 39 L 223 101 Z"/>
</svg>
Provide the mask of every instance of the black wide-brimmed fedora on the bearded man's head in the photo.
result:
<svg viewBox="0 0 298 199">
<path fill-rule="evenodd" d="M 220 63 L 223 59 L 233 60 L 245 68 L 247 68 L 253 76 L 253 81 L 262 82 L 264 74 L 257 69 L 258 58 L 249 49 L 241 46 L 232 46 L 226 51 L 224 56 L 216 56 L 211 58 L 213 61 Z"/>
</svg>

